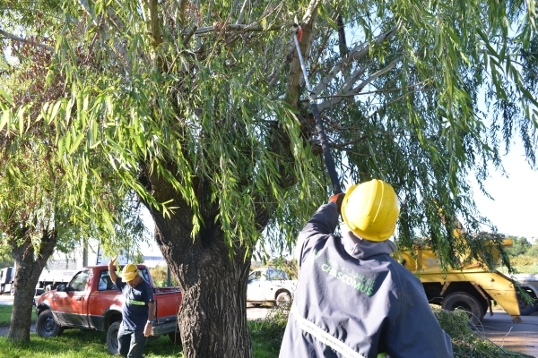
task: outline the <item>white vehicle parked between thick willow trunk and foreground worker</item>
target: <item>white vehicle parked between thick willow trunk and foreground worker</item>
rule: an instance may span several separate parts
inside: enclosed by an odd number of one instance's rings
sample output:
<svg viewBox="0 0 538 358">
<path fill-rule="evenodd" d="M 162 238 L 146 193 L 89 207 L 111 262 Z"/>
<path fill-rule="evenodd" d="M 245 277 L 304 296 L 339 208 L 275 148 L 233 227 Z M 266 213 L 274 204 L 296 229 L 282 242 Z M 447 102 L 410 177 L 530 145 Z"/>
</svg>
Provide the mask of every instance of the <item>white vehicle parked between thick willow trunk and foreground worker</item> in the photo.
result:
<svg viewBox="0 0 538 358">
<path fill-rule="evenodd" d="M 248 275 L 247 303 L 256 307 L 265 302 L 291 303 L 297 280 L 280 268 L 257 268 Z"/>
</svg>

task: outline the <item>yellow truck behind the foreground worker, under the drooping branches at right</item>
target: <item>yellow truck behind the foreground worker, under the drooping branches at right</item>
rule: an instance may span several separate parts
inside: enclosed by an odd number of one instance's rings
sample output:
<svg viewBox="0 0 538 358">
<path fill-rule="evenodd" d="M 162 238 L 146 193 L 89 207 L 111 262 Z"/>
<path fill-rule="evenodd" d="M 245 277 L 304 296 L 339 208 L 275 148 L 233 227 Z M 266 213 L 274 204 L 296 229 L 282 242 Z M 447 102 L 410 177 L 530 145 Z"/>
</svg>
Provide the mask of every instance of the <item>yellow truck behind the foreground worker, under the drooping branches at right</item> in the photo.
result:
<svg viewBox="0 0 538 358">
<path fill-rule="evenodd" d="M 511 244 L 511 240 L 503 242 L 506 246 Z M 400 252 L 397 259 L 421 279 L 430 303 L 447 311 L 469 311 L 473 323 L 478 324 L 488 310 L 493 315 L 491 303 L 495 302 L 512 316 L 514 323 L 521 322 L 514 282 L 499 271 L 489 271 L 475 262 L 463 269 L 443 271 L 433 251 L 421 246 L 416 246 L 413 253 Z"/>
</svg>

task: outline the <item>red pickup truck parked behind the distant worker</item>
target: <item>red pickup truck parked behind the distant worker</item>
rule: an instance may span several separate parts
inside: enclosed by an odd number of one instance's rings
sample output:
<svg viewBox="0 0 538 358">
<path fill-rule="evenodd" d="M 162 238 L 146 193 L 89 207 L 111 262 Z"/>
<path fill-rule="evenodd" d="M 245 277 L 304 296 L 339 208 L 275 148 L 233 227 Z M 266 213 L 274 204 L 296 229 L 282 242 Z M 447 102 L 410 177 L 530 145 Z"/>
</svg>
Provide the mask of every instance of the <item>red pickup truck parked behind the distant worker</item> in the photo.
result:
<svg viewBox="0 0 538 358">
<path fill-rule="evenodd" d="M 153 287 L 155 319 L 152 336 L 178 337 L 178 311 L 182 294 L 178 287 L 153 286 L 150 271 L 137 266 L 143 279 Z M 81 268 L 67 285 L 39 296 L 35 302 L 39 337 L 55 337 L 65 328 L 96 329 L 107 332 L 108 353 L 117 354 L 117 331 L 121 323 L 123 295 L 108 275 L 108 266 Z"/>
</svg>

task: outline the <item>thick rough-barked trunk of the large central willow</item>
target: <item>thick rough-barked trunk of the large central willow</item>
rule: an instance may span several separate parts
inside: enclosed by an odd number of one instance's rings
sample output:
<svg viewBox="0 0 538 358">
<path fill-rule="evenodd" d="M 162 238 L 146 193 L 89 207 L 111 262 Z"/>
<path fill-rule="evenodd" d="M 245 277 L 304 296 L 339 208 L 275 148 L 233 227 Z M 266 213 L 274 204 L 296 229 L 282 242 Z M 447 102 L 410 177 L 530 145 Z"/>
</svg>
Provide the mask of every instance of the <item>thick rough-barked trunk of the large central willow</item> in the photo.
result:
<svg viewBox="0 0 538 358">
<path fill-rule="evenodd" d="M 216 203 L 206 206 L 209 195 L 200 183 L 197 197 L 204 226 L 193 238 L 193 216 L 166 181 L 150 175 L 156 199 L 174 198 L 179 208 L 170 217 L 151 209 L 155 221 L 155 239 L 172 273 L 178 278 L 183 294 L 178 314 L 181 340 L 186 358 L 250 358 L 251 343 L 247 330 L 247 277 L 250 255 L 244 247 L 224 242 Z"/>
</svg>

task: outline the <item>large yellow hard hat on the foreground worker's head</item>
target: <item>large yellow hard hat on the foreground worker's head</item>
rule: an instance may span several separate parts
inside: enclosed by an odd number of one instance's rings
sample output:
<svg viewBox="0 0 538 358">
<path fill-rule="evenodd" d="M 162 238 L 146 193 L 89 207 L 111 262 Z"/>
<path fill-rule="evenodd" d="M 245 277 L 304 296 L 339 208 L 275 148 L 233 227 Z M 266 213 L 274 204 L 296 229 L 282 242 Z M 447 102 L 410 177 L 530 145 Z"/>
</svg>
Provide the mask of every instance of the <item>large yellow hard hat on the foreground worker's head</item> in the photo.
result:
<svg viewBox="0 0 538 358">
<path fill-rule="evenodd" d="M 369 241 L 385 241 L 395 232 L 400 201 L 381 180 L 352 185 L 342 201 L 342 217 L 351 231 Z"/>
</svg>

